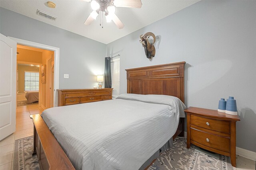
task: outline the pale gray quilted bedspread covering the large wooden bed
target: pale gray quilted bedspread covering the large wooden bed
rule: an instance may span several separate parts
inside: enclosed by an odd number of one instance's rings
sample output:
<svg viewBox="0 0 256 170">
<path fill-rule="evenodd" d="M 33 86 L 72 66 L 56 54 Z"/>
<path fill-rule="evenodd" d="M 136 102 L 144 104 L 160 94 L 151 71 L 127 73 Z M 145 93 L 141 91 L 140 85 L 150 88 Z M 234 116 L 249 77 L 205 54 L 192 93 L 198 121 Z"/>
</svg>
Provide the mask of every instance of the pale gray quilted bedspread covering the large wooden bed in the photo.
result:
<svg viewBox="0 0 256 170">
<path fill-rule="evenodd" d="M 42 117 L 76 170 L 137 170 L 176 132 L 178 108 L 115 99 L 53 107 Z"/>
</svg>

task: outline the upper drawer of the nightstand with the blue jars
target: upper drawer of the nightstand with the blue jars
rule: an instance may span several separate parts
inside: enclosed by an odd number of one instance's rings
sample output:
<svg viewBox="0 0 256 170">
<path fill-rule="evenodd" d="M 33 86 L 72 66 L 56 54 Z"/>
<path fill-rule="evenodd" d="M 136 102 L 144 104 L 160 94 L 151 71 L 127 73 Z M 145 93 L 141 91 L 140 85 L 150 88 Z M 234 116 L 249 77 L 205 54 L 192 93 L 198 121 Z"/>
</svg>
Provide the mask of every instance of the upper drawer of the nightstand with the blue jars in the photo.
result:
<svg viewBox="0 0 256 170">
<path fill-rule="evenodd" d="M 205 117 L 191 115 L 190 123 L 195 126 L 203 127 L 205 129 L 210 129 L 210 130 L 218 131 L 222 133 L 230 133 L 229 121 L 208 119 Z"/>
</svg>

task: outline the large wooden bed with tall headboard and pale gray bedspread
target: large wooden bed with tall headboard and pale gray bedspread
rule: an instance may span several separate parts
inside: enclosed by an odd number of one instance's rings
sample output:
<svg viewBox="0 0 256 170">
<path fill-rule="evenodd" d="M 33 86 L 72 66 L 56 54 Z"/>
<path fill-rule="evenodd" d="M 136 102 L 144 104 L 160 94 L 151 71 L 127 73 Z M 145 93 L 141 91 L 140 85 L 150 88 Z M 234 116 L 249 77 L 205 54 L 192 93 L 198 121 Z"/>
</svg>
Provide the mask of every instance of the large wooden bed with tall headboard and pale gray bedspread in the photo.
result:
<svg viewBox="0 0 256 170">
<path fill-rule="evenodd" d="M 146 168 L 154 153 L 172 137 L 183 135 L 184 64 L 128 69 L 128 94 L 115 100 L 46 109 L 44 119 L 31 115 L 34 152 L 41 168 Z"/>
</svg>

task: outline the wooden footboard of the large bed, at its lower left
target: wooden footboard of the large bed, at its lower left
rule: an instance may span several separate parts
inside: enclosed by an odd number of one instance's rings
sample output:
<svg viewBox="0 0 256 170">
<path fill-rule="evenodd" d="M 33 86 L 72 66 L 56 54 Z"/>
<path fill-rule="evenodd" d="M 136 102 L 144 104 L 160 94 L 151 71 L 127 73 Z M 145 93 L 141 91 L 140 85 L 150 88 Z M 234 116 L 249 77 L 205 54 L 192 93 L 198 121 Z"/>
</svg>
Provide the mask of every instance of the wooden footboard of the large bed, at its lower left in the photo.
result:
<svg viewBox="0 0 256 170">
<path fill-rule="evenodd" d="M 41 170 L 75 170 L 40 114 L 30 115 L 34 123 L 34 153 Z"/>
</svg>

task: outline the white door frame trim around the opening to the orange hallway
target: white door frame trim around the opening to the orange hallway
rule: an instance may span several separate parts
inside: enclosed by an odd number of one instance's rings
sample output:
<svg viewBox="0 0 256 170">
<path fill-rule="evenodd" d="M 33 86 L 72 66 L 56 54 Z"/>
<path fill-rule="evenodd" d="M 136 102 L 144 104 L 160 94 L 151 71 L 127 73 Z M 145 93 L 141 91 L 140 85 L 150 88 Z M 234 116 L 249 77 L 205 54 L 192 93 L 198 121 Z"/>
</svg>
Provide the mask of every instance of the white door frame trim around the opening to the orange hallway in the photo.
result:
<svg viewBox="0 0 256 170">
<path fill-rule="evenodd" d="M 53 93 L 54 103 L 53 103 L 53 107 L 58 106 L 57 89 L 59 88 L 60 48 L 53 47 L 50 45 L 35 43 L 35 42 L 27 41 L 24 39 L 18 39 L 18 38 L 14 38 L 14 37 L 9 37 L 9 38 L 16 41 L 17 44 L 20 44 L 20 45 L 26 45 L 26 46 L 30 46 L 30 47 L 36 47 L 39 49 L 46 49 L 46 50 L 54 51 L 54 93 Z"/>
</svg>

